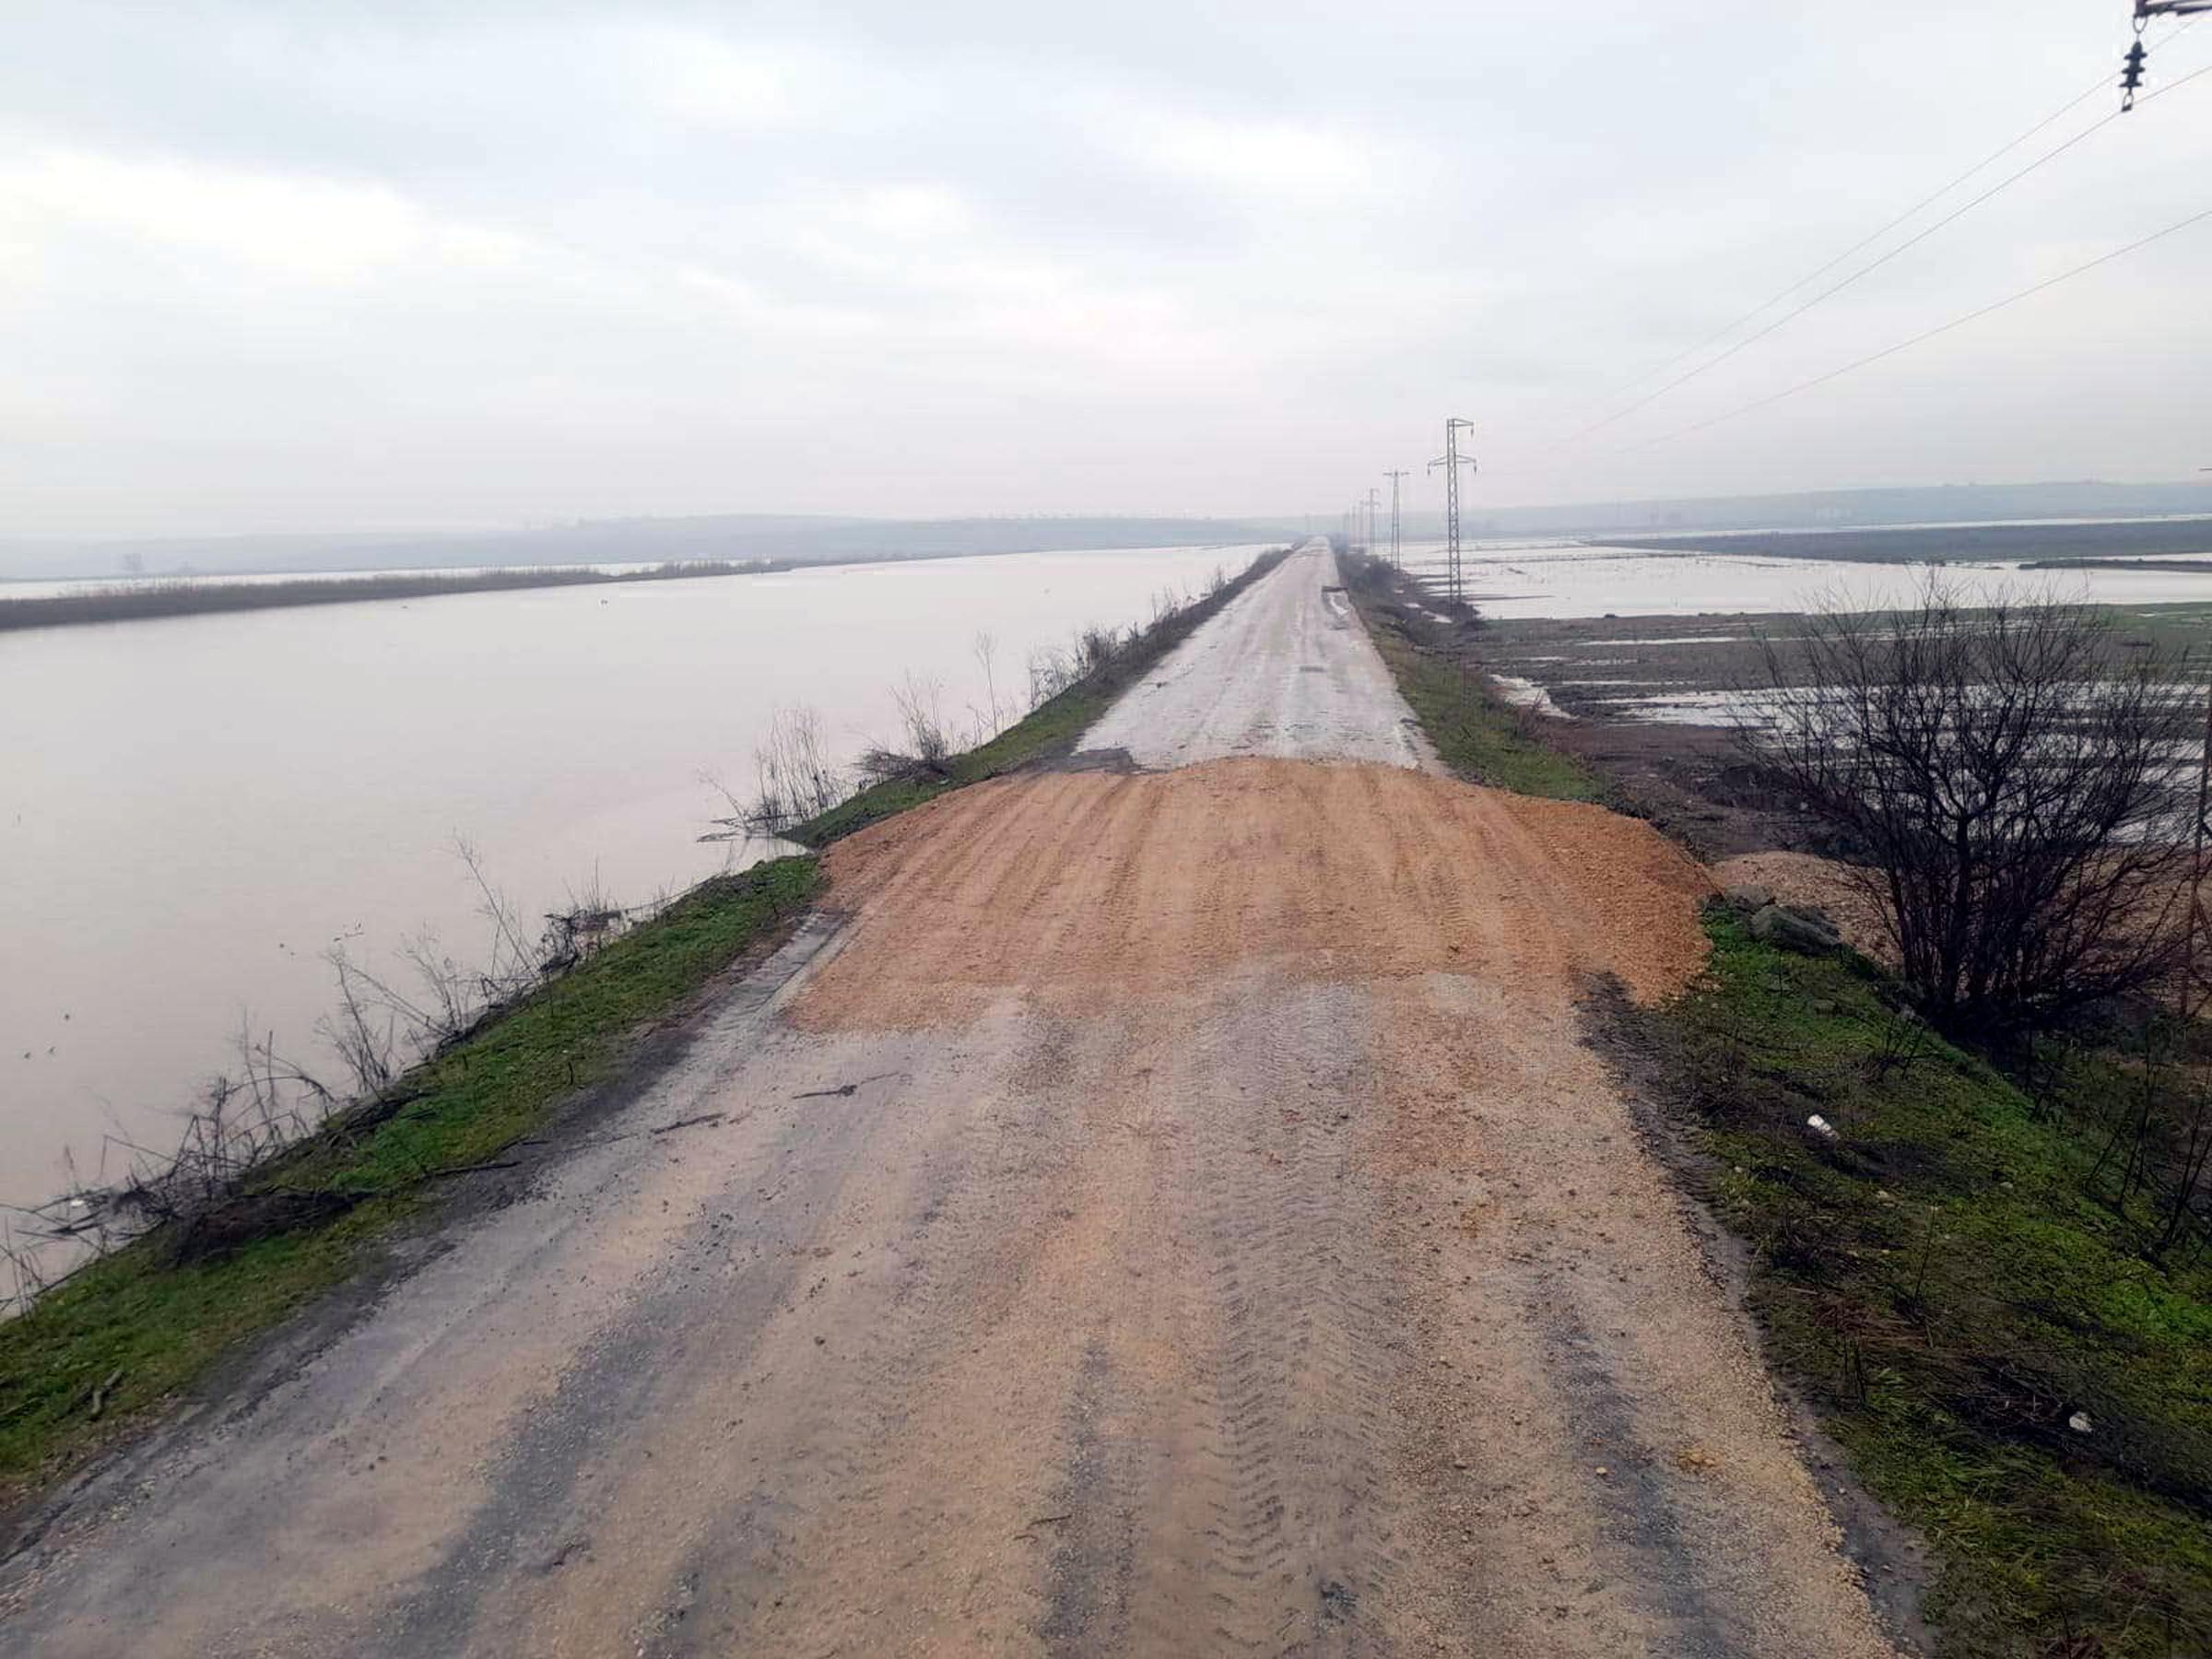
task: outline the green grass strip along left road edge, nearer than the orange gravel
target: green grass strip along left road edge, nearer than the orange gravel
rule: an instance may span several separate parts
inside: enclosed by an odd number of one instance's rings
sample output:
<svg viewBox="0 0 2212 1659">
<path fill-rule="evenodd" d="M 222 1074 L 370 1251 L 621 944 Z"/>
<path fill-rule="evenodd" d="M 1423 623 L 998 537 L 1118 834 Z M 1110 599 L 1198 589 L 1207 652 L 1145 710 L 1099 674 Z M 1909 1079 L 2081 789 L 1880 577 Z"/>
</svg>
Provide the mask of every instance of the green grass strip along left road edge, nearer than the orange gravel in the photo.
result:
<svg viewBox="0 0 2212 1659">
<path fill-rule="evenodd" d="M 155 1232 L 0 1325 L 0 1498 L 60 1473 L 117 1422 L 190 1385 L 232 1343 L 356 1270 L 380 1234 L 425 1203 L 440 1172 L 495 1157 L 564 1097 L 615 1075 L 646 1026 L 779 938 L 818 883 L 812 858 L 703 883 L 403 1077 L 387 1102 L 405 1104 L 383 1121 L 334 1126 L 250 1183 L 345 1194 L 352 1208 L 336 1219 L 195 1263 L 177 1263 L 175 1241 Z"/>
</svg>

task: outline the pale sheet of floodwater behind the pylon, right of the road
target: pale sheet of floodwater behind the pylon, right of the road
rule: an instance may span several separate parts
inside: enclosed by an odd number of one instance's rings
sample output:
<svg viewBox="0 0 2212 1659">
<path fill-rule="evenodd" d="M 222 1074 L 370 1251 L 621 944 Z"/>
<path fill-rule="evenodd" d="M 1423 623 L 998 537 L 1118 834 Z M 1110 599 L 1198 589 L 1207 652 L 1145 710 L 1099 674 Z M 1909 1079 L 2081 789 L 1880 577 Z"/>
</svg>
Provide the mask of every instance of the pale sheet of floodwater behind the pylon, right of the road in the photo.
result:
<svg viewBox="0 0 2212 1659">
<path fill-rule="evenodd" d="M 2197 555 L 2199 560 L 2203 555 Z M 1409 542 L 1407 568 L 1442 582 L 1436 542 Z M 2017 564 L 1863 564 L 1743 553 L 1652 553 L 1559 542 L 1471 542 L 1462 549 L 1467 597 L 1486 617 L 1694 617 L 1805 611 L 1843 593 L 1876 608 L 1909 599 L 1931 571 L 1969 593 L 2059 593 L 2097 604 L 2212 602 L 2212 571 L 2022 571 Z"/>
</svg>

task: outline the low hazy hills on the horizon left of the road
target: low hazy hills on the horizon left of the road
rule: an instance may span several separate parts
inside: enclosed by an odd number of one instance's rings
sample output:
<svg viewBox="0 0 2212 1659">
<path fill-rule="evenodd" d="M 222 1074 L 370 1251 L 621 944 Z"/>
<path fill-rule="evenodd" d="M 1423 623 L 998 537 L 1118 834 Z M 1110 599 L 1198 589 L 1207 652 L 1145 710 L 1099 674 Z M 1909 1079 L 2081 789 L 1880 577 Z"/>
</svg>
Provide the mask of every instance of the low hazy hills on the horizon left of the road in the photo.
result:
<svg viewBox="0 0 2212 1659">
<path fill-rule="evenodd" d="M 405 571 L 484 564 L 659 564 L 666 560 L 920 560 L 1046 549 L 1283 542 L 1298 522 L 1221 518 L 717 518 L 586 520 L 549 529 L 427 535 L 237 535 L 137 542 L 0 542 L 0 577 L 268 571 Z"/>
</svg>

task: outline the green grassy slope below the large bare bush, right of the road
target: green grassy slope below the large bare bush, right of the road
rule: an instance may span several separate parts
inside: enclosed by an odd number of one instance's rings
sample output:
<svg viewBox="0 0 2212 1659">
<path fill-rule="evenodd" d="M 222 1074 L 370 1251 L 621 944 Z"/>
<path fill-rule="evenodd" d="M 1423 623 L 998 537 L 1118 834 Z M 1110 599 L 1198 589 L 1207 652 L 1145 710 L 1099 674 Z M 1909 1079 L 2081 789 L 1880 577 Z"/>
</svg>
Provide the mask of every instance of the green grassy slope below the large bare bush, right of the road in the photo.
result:
<svg viewBox="0 0 2212 1659">
<path fill-rule="evenodd" d="M 1936 1548 L 1940 1652 L 2212 1652 L 2212 1270 L 2146 1263 L 2093 1137 L 1878 971 L 1708 927 L 1708 984 L 1648 1029 L 1770 1352 Z"/>
</svg>

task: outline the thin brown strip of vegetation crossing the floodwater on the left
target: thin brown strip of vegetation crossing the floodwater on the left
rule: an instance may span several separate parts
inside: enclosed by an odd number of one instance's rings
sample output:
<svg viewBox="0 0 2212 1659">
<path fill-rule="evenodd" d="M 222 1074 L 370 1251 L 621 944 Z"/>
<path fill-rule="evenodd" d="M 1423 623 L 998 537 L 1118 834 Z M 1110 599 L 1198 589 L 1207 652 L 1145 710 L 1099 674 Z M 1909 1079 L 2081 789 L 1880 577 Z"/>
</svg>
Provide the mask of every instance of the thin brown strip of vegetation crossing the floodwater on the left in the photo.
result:
<svg viewBox="0 0 2212 1659">
<path fill-rule="evenodd" d="M 650 571 L 531 568 L 465 571 L 447 575 L 301 577 L 299 582 L 117 582 L 82 593 L 9 599 L 0 591 L 0 633 L 62 628 L 73 622 L 148 622 L 197 617 L 215 611 L 279 611 L 296 604 L 356 604 L 361 599 L 436 599 L 449 593 L 504 588 L 575 588 L 606 582 L 679 582 L 701 575 L 761 575 L 787 571 L 787 560 L 681 560 Z"/>
</svg>

